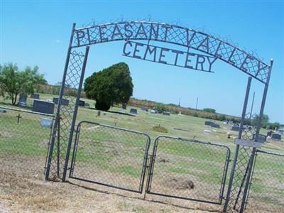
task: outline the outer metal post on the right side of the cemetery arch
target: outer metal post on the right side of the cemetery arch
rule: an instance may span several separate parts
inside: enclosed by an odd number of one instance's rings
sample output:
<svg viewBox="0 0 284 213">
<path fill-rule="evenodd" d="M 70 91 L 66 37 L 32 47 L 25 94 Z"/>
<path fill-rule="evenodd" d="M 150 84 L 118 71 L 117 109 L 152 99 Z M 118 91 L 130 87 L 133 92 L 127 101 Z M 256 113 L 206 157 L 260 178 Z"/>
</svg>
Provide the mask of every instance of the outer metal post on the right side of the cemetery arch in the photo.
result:
<svg viewBox="0 0 284 213">
<path fill-rule="evenodd" d="M 257 129 L 256 129 L 256 136 L 254 138 L 254 141 L 258 141 L 258 135 L 259 135 L 259 132 L 261 131 L 261 120 L 262 120 L 262 117 L 263 117 L 264 107 L 266 105 L 266 97 L 267 97 L 267 92 L 268 92 L 269 81 L 271 79 L 272 65 L 273 65 L 273 60 L 271 59 L 271 66 L 269 67 L 266 85 L 265 85 L 264 91 L 263 91 L 263 97 L 262 97 L 262 102 L 261 102 L 261 111 L 259 112 L 258 125 L 257 125 Z M 253 168 L 253 161 L 254 161 L 255 155 L 256 155 L 256 148 L 253 148 L 253 151 L 251 153 L 251 160 L 249 161 L 248 177 L 246 179 L 246 186 L 244 187 L 244 197 L 243 197 L 242 202 L 241 202 L 240 212 L 244 212 L 244 207 L 246 205 L 247 192 L 248 192 L 248 189 L 249 189 L 249 182 L 251 180 L 251 171 L 252 171 L 252 168 Z"/>
</svg>

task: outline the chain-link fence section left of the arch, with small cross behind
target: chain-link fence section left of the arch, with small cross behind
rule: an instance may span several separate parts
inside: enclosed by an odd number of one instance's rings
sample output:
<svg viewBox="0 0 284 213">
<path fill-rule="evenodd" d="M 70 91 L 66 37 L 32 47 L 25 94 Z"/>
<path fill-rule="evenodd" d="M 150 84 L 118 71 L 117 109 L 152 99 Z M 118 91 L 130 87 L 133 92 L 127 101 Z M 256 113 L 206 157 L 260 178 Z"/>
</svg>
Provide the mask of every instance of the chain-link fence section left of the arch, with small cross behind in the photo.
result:
<svg viewBox="0 0 284 213">
<path fill-rule="evenodd" d="M 53 115 L 0 107 L 0 173 L 43 179 Z"/>
</svg>

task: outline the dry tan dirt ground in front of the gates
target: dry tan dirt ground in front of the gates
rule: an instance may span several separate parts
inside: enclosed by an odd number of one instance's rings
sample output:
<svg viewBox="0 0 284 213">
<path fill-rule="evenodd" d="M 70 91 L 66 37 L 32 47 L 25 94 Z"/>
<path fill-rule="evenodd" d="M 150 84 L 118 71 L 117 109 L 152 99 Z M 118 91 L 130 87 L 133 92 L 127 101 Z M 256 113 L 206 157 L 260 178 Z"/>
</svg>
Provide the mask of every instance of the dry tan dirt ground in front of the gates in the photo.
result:
<svg viewBox="0 0 284 213">
<path fill-rule="evenodd" d="M 111 189 L 70 180 L 46 182 L 1 170 L 0 212 L 218 212 L 217 205 Z M 3 174 L 2 173 L 2 174 Z"/>
</svg>

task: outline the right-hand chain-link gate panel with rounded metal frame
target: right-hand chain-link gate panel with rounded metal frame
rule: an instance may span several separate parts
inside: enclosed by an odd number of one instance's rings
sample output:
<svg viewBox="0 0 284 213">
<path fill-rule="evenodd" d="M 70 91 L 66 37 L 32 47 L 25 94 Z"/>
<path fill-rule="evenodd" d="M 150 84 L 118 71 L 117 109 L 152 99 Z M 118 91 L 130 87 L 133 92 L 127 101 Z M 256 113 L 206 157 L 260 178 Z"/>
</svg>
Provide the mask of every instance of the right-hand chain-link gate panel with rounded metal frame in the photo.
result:
<svg viewBox="0 0 284 213">
<path fill-rule="evenodd" d="M 155 139 L 146 192 L 222 204 L 229 165 L 227 146 L 159 136 Z"/>
</svg>

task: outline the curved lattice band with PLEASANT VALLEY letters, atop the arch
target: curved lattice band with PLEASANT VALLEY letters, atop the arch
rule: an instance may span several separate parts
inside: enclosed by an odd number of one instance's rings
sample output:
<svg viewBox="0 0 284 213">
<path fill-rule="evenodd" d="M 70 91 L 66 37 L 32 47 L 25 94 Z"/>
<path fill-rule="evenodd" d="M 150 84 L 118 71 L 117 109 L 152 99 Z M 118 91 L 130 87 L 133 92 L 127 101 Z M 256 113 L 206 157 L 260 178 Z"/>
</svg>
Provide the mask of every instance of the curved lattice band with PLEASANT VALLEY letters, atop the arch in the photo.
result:
<svg viewBox="0 0 284 213">
<path fill-rule="evenodd" d="M 167 23 L 121 21 L 78 28 L 72 48 L 116 40 L 155 40 L 181 45 L 219 58 L 264 84 L 268 79 L 270 66 L 254 55 L 207 33 Z"/>
</svg>

